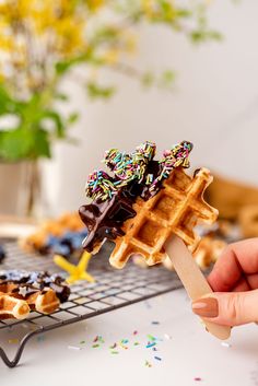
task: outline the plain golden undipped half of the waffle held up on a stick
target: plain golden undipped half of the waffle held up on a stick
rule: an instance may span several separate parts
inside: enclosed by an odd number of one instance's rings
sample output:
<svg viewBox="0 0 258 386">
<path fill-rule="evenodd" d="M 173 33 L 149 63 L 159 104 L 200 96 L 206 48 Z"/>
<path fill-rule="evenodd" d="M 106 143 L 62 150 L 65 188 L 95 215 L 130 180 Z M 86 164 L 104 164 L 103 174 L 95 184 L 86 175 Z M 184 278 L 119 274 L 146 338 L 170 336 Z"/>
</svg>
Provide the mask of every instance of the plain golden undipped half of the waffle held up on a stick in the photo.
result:
<svg viewBox="0 0 258 386">
<path fill-rule="evenodd" d="M 146 201 L 138 198 L 133 204 L 137 215 L 122 225 L 125 235 L 115 239 L 110 264 L 122 268 L 133 254 L 141 254 L 149 266 L 159 264 L 166 257 L 164 244 L 172 234 L 179 236 L 194 250 L 199 242 L 194 232 L 197 222 L 211 224 L 218 217 L 216 209 L 202 198 L 211 182 L 207 168 L 190 177 L 178 167 L 153 198 Z"/>
</svg>

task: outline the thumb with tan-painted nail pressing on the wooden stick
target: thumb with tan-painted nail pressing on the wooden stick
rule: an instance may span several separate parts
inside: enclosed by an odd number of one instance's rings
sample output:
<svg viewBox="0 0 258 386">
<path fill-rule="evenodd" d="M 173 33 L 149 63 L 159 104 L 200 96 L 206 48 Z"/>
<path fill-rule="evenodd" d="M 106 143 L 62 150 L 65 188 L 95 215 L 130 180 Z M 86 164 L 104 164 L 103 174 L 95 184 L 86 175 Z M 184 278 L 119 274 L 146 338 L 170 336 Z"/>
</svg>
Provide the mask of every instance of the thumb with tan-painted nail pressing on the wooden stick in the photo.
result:
<svg viewBox="0 0 258 386">
<path fill-rule="evenodd" d="M 192 303 L 195 314 L 224 326 L 239 326 L 258 320 L 258 290 L 214 292 Z"/>
</svg>

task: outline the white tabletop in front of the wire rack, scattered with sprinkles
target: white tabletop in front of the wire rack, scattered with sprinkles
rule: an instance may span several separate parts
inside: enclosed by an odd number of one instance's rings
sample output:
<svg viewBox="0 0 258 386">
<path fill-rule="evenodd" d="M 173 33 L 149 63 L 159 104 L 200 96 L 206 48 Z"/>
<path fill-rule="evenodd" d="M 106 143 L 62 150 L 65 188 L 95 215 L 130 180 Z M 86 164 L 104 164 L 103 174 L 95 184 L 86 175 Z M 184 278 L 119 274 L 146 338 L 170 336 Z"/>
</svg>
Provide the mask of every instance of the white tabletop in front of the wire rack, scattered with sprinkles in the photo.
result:
<svg viewBox="0 0 258 386">
<path fill-rule="evenodd" d="M 7 341 L 15 339 L 14 332 L 8 334 Z M 157 351 L 145 348 L 148 334 L 162 339 Z M 97 335 L 105 342 L 92 348 Z M 119 353 L 112 354 L 109 346 L 121 339 L 129 340 L 128 349 L 118 347 L 114 350 Z M 80 344 L 82 340 L 85 343 Z M 133 346 L 136 341 L 140 344 Z M 258 326 L 235 328 L 228 342 L 230 347 L 222 346 L 203 330 L 185 291 L 177 290 L 33 338 L 17 367 L 0 363 L 0 385 L 258 385 Z M 152 366 L 145 366 L 145 361 Z"/>
</svg>

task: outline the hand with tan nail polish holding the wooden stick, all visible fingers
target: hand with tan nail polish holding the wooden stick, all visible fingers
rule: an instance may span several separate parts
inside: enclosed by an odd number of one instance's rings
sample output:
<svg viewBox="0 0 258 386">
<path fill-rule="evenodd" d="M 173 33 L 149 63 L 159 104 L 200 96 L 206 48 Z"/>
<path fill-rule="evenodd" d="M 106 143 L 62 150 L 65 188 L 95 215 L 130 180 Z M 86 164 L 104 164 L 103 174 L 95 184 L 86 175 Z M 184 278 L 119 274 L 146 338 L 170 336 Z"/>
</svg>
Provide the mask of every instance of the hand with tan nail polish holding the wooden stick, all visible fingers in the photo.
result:
<svg viewBox="0 0 258 386">
<path fill-rule="evenodd" d="M 225 326 L 258 320 L 258 238 L 228 245 L 208 281 L 214 293 L 192 302 L 195 314 Z"/>
</svg>

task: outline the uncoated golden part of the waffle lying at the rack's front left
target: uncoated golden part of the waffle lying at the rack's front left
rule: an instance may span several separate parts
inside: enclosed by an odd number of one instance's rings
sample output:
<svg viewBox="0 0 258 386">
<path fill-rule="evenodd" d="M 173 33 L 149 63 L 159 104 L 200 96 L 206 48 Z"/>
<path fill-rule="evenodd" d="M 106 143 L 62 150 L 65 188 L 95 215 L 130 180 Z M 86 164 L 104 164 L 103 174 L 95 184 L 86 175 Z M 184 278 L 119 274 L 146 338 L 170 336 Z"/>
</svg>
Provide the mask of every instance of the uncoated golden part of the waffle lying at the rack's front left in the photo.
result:
<svg viewBox="0 0 258 386">
<path fill-rule="evenodd" d="M 24 319 L 30 311 L 50 314 L 60 304 L 55 291 L 30 289 L 16 283 L 0 284 L 0 319 Z"/>
</svg>

